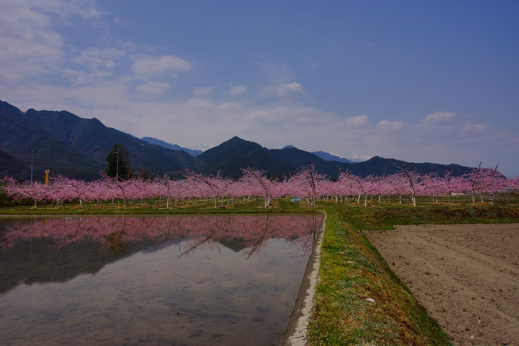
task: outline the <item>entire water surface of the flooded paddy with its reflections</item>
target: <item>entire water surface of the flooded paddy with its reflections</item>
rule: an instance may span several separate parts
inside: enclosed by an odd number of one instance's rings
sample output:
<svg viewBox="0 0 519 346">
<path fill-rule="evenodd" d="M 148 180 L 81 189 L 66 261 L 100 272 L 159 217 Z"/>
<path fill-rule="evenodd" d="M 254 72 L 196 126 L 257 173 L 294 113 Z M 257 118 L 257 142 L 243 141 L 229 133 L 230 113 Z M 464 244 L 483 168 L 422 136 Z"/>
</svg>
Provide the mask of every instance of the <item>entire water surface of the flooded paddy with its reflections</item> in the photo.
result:
<svg viewBox="0 0 519 346">
<path fill-rule="evenodd" d="M 320 217 L 0 218 L 6 344 L 277 344 Z"/>
</svg>

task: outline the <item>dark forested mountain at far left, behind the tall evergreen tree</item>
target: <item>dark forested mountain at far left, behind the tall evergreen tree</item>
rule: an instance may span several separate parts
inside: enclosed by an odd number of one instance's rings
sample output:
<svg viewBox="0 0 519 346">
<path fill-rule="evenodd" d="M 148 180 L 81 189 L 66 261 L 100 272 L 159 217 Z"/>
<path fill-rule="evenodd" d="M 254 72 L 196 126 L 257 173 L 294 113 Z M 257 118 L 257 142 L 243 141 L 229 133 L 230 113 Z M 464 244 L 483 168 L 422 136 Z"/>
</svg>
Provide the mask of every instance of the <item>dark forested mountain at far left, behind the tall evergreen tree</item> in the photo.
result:
<svg viewBox="0 0 519 346">
<path fill-rule="evenodd" d="M 106 157 L 114 144 L 128 148 L 132 171 L 144 169 L 153 172 L 155 165 L 157 175 L 168 173 L 182 177 L 177 167 L 187 167 L 193 161 L 193 157 L 183 150 L 149 144 L 108 128 L 98 119 L 84 119 L 66 111 L 29 109 L 22 113 L 18 108 L 1 102 L 0 116 L 0 131 L 4 138 L 0 149 L 18 161 L 30 161 L 29 150 L 35 151 L 36 180 L 41 180 L 43 171 L 47 169 L 54 174 L 75 178 L 98 178 L 99 171 L 106 168 Z M 7 167 L 2 167 L 0 173 L 4 172 L 18 179 L 28 178 Z"/>
</svg>

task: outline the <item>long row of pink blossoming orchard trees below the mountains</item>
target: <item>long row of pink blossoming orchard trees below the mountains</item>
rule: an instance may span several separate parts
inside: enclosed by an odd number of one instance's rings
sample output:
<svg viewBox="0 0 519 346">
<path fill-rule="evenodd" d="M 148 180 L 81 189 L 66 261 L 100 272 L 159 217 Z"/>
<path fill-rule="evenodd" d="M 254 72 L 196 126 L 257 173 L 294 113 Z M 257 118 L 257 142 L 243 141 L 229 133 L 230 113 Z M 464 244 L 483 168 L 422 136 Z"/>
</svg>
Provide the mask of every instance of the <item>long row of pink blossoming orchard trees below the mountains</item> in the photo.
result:
<svg viewBox="0 0 519 346">
<path fill-rule="evenodd" d="M 70 179 L 64 176 L 54 177 L 50 186 L 43 184 L 20 184 L 12 178 L 2 179 L 2 189 L 13 199 L 31 199 L 37 202 L 79 201 L 81 207 L 85 201 L 100 205 L 110 200 L 120 200 L 126 206 L 128 202 L 142 203 L 147 200 L 163 200 L 166 207 L 172 202 L 192 202 L 201 199 L 213 199 L 214 207 L 224 201 L 235 203 L 243 198 L 262 198 L 265 207 L 272 199 L 291 196 L 306 200 L 314 205 L 321 198 L 334 199 L 336 202 L 355 201 L 367 205 L 368 198 L 378 197 L 378 201 L 408 196 L 416 205 L 416 198 L 429 196 L 433 200 L 439 197 L 448 199 L 454 196 L 470 196 L 472 203 L 485 198 L 493 202 L 496 193 L 517 193 L 519 179 L 510 179 L 492 168 L 474 168 L 471 173 L 453 176 L 445 172 L 443 177 L 435 174 L 418 174 L 403 167 L 399 173 L 387 176 L 369 176 L 361 178 L 350 172 L 340 172 L 335 181 L 319 174 L 313 165 L 302 167 L 296 173 L 283 180 L 272 180 L 263 170 L 242 169 L 242 177 L 229 179 L 217 175 L 204 175 L 192 171 L 185 172 L 185 179 L 175 180 L 167 175 L 150 180 L 120 180 L 104 176 L 94 182 Z"/>
</svg>

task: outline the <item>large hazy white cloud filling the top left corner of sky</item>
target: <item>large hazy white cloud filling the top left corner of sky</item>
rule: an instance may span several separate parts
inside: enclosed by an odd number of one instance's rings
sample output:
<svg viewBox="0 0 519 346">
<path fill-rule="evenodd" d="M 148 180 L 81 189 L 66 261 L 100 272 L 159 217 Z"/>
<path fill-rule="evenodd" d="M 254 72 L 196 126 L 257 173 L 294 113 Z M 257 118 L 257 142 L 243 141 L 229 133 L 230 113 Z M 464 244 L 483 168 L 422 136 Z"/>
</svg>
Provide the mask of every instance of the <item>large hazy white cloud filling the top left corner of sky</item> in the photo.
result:
<svg viewBox="0 0 519 346">
<path fill-rule="evenodd" d="M 1 0 L 0 7 L 0 77 L 11 81 L 62 71 L 66 39 L 56 24 L 104 14 L 94 0 Z"/>
</svg>

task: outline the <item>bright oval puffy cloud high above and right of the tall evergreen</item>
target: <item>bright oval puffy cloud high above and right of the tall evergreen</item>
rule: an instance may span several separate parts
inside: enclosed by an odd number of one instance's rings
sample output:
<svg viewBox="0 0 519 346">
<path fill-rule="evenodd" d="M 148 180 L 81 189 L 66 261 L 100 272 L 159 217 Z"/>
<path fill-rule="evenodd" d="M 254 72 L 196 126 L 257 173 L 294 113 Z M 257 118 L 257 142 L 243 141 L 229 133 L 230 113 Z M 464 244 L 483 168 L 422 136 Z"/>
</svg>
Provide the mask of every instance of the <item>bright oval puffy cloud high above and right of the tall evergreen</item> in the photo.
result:
<svg viewBox="0 0 519 346">
<path fill-rule="evenodd" d="M 188 72 L 194 66 L 192 62 L 175 56 L 139 55 L 131 58 L 133 59 L 131 70 L 139 78 L 147 78 L 166 72 L 176 77 L 177 75 L 174 72 Z"/>
</svg>

